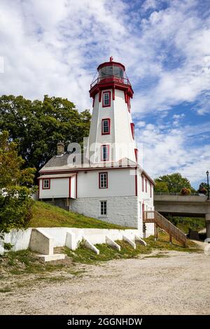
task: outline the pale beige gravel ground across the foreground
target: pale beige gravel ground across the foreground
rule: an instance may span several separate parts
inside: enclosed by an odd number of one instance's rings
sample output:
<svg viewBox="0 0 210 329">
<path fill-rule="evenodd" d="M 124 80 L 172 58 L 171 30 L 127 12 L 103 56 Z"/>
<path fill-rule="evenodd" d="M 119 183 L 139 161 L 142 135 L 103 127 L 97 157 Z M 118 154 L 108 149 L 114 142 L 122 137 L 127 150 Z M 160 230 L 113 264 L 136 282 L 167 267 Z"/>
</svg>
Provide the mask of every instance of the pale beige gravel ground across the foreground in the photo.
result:
<svg viewBox="0 0 210 329">
<path fill-rule="evenodd" d="M 165 255 L 76 265 L 85 272 L 62 281 L 30 276 L 20 287 L 19 277 L 0 314 L 210 314 L 210 256 Z"/>
</svg>

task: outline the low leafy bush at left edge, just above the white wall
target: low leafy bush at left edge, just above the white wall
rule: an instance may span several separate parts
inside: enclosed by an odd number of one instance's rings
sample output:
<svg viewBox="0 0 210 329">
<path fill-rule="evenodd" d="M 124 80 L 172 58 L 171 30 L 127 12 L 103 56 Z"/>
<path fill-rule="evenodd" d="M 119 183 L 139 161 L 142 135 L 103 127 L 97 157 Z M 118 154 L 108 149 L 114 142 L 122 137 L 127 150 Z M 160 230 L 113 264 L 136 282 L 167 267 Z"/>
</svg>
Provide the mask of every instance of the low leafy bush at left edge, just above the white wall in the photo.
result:
<svg viewBox="0 0 210 329">
<path fill-rule="evenodd" d="M 11 186 L 0 190 L 0 235 L 13 228 L 25 228 L 31 219 L 34 189 Z"/>
</svg>

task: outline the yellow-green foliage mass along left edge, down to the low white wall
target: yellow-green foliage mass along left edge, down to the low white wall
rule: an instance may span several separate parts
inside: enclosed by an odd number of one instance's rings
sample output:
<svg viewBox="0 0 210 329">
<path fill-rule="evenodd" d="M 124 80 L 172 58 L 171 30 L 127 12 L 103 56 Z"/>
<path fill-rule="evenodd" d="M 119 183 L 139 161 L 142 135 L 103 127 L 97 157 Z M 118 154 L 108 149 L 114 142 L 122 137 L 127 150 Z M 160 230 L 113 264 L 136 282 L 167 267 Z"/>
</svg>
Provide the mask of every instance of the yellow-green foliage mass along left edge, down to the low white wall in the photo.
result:
<svg viewBox="0 0 210 329">
<path fill-rule="evenodd" d="M 12 228 L 24 228 L 31 217 L 36 168 L 22 169 L 18 146 L 0 134 L 0 237 Z"/>
</svg>

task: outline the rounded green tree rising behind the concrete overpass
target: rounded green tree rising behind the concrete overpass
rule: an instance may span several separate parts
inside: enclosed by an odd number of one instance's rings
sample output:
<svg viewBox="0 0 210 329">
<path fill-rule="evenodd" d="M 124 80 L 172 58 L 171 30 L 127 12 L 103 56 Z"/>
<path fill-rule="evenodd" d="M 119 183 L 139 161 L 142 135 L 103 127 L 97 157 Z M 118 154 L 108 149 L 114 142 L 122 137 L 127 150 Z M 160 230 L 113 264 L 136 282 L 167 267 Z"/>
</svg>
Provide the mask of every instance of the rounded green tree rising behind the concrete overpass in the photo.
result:
<svg viewBox="0 0 210 329">
<path fill-rule="evenodd" d="M 155 179 L 155 183 L 158 182 L 166 183 L 169 193 L 180 193 L 182 188 L 189 188 L 191 191 L 195 191 L 190 185 L 190 181 L 179 173 L 160 176 L 158 179 Z"/>
</svg>

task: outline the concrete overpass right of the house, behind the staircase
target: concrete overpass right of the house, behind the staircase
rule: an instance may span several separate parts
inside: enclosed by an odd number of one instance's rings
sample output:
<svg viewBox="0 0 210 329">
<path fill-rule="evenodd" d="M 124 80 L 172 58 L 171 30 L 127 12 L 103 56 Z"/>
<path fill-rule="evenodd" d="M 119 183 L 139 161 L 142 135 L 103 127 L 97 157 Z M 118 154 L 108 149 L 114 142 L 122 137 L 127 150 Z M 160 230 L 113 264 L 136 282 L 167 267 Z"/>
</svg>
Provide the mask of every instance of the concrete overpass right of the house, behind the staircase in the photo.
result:
<svg viewBox="0 0 210 329">
<path fill-rule="evenodd" d="M 205 195 L 155 194 L 155 210 L 162 215 L 204 217 L 210 238 L 210 200 Z"/>
</svg>

